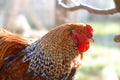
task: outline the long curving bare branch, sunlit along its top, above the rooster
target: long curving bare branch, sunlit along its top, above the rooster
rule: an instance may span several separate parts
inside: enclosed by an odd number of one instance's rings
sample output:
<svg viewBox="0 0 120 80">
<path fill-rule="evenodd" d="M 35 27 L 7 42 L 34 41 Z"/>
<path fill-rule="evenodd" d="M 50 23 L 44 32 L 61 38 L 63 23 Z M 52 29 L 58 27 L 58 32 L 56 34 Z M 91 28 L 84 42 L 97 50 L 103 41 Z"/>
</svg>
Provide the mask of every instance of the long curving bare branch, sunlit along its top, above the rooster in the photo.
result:
<svg viewBox="0 0 120 80">
<path fill-rule="evenodd" d="M 120 11 L 118 11 L 116 8 L 102 10 L 99 8 L 94 8 L 92 6 L 85 5 L 83 3 L 80 3 L 79 5 L 77 4 L 74 7 L 70 7 L 70 6 L 67 6 L 66 4 L 64 4 L 62 2 L 62 0 L 57 0 L 57 1 L 58 1 L 59 6 L 64 8 L 67 11 L 76 11 L 76 10 L 83 9 L 83 10 L 87 10 L 91 14 L 101 14 L 101 15 L 120 13 Z"/>
</svg>

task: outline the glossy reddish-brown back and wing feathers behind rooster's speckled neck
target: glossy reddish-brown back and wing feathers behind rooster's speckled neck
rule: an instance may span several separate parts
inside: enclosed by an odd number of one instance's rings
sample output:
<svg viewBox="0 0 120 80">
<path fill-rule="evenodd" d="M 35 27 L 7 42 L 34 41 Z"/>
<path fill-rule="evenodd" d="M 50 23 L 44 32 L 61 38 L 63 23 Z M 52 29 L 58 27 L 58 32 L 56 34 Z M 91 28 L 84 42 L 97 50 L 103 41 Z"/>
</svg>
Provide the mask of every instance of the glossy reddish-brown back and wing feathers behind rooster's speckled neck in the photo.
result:
<svg viewBox="0 0 120 80">
<path fill-rule="evenodd" d="M 21 50 L 27 46 L 28 42 L 22 36 L 0 29 L 0 79 L 20 78 L 19 76 L 27 71 L 28 63 L 23 64 L 20 58 L 23 57 Z"/>
</svg>

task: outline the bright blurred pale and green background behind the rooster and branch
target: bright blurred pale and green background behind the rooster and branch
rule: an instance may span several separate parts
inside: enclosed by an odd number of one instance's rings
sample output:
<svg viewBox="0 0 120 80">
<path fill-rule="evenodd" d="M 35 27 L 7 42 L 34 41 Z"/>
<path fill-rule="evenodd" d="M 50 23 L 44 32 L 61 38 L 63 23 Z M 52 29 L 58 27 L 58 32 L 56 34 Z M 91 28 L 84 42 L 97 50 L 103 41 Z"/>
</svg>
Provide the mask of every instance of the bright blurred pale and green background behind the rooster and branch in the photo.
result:
<svg viewBox="0 0 120 80">
<path fill-rule="evenodd" d="M 113 0 L 75 0 L 100 9 L 114 8 Z M 72 5 L 70 0 L 64 0 Z M 59 8 L 56 0 L 0 0 L 0 28 L 37 39 L 63 23 L 89 23 L 95 43 L 86 52 L 75 80 L 120 80 L 120 14 L 96 15 Z"/>
</svg>

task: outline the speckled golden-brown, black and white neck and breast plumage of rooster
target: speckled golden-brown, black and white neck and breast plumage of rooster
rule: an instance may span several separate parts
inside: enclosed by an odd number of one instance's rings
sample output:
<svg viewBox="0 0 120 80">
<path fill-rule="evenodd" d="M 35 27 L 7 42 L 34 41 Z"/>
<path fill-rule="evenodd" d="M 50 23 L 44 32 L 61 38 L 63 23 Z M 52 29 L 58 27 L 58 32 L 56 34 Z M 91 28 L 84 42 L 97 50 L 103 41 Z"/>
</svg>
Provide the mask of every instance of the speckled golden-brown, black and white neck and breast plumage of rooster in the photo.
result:
<svg viewBox="0 0 120 80">
<path fill-rule="evenodd" d="M 38 40 L 34 50 L 29 53 L 32 56 L 28 54 L 23 59 L 30 60 L 28 71 L 34 71 L 35 76 L 40 75 L 46 80 L 67 80 L 71 69 L 80 65 L 75 60 L 80 55 L 79 51 L 70 36 L 74 27 L 78 25 L 61 25 Z"/>
</svg>

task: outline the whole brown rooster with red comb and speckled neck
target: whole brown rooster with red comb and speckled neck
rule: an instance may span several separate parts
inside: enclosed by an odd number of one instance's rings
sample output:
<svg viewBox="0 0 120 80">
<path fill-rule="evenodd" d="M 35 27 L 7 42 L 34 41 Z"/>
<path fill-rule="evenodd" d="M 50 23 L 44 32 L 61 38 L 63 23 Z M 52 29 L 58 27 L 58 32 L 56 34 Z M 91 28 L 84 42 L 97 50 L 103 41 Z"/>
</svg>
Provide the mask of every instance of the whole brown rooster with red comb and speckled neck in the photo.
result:
<svg viewBox="0 0 120 80">
<path fill-rule="evenodd" d="M 92 27 L 78 23 L 57 26 L 32 43 L 1 29 L 0 79 L 72 80 L 92 38 Z"/>
</svg>

